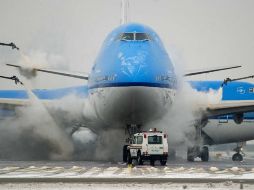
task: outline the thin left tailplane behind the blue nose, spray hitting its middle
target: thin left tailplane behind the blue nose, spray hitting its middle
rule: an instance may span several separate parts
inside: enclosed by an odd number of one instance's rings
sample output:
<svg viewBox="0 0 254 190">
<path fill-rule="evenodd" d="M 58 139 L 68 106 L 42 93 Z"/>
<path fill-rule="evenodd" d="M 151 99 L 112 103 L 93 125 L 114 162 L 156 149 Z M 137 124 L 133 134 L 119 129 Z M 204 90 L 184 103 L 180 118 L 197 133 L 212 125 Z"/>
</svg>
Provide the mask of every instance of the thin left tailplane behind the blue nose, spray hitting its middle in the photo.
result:
<svg viewBox="0 0 254 190">
<path fill-rule="evenodd" d="M 84 79 L 88 80 L 88 75 L 86 74 L 81 74 L 81 73 L 71 73 L 71 72 L 65 72 L 65 71 L 57 71 L 57 70 L 51 70 L 51 69 L 41 69 L 41 68 L 23 68 L 20 65 L 15 65 L 15 64 L 6 64 L 7 66 L 10 67 L 16 67 L 19 69 L 30 69 L 31 71 L 39 71 L 39 72 L 44 72 L 44 73 L 50 73 L 50 74 L 55 74 L 55 75 L 62 75 L 62 76 L 67 76 L 67 77 L 72 77 L 72 78 L 78 78 L 78 79 Z"/>
</svg>

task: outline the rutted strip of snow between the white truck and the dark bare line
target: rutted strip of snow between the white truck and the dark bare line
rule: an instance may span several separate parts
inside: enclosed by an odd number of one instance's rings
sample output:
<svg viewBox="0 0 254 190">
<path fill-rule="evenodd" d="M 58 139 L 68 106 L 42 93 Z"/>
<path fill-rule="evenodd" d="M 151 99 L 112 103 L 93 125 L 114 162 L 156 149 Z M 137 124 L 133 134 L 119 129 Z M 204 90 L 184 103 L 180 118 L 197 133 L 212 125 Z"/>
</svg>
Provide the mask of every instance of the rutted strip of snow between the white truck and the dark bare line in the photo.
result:
<svg viewBox="0 0 254 190">
<path fill-rule="evenodd" d="M 232 166 L 153 167 L 149 165 L 127 167 L 108 166 L 27 166 L 0 168 L 0 181 L 5 178 L 208 178 L 208 179 L 254 179 L 254 168 Z"/>
</svg>

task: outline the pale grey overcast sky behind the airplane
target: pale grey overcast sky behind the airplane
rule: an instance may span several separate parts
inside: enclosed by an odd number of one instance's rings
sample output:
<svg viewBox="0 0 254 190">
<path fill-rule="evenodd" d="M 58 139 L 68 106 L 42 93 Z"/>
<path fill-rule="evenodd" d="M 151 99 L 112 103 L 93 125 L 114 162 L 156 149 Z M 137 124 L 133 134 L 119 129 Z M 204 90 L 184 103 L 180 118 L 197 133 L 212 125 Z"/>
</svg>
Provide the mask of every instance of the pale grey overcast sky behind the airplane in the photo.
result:
<svg viewBox="0 0 254 190">
<path fill-rule="evenodd" d="M 106 35 L 120 24 L 120 0 L 0 0 L 0 41 L 15 42 L 35 62 L 89 72 Z M 192 77 L 224 79 L 254 74 L 253 0 L 130 0 L 130 20 L 151 26 L 162 38 L 175 65 L 197 70 L 242 65 L 239 70 Z M 5 63 L 20 55 L 0 47 Z M 48 87 L 40 75 L 37 87 Z M 51 86 L 81 83 L 54 77 Z M 46 81 L 46 82 L 45 82 Z M 0 79 L 0 88 L 11 83 Z M 53 85 L 53 86 L 52 86 Z"/>
</svg>

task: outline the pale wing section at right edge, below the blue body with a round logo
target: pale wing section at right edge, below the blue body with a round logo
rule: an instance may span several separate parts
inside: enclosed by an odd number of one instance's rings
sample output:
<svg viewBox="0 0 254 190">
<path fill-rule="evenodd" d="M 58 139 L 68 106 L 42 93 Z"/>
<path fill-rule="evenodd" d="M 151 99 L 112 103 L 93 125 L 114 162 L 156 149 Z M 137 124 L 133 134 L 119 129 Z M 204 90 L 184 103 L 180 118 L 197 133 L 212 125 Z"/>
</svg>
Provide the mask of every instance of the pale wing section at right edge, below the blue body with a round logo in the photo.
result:
<svg viewBox="0 0 254 190">
<path fill-rule="evenodd" d="M 225 101 L 219 104 L 212 104 L 206 108 L 206 117 L 253 112 L 254 101 Z"/>
</svg>

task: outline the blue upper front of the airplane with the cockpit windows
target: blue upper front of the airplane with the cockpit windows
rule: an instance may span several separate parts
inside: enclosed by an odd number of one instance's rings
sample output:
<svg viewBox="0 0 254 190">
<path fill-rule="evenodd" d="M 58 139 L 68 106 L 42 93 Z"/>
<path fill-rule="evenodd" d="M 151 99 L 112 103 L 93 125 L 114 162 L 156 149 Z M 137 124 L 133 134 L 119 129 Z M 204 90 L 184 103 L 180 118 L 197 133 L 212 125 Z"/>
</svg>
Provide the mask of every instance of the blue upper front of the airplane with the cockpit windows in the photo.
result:
<svg viewBox="0 0 254 190">
<path fill-rule="evenodd" d="M 138 36 L 141 34 L 144 36 Z M 176 88 L 171 60 L 159 36 L 147 26 L 122 25 L 108 35 L 102 46 L 88 88 L 119 86 Z"/>
</svg>

